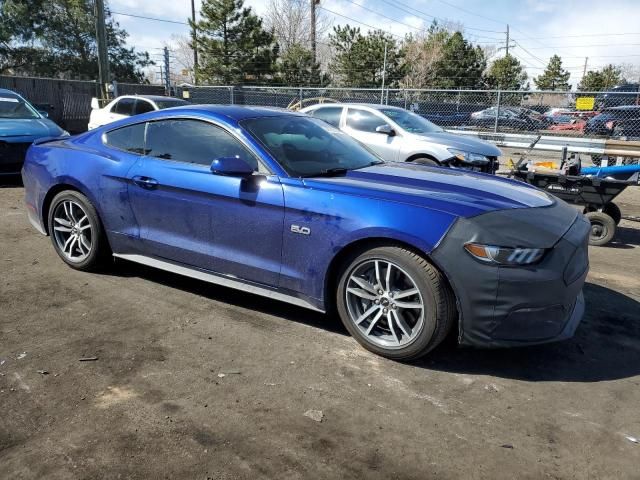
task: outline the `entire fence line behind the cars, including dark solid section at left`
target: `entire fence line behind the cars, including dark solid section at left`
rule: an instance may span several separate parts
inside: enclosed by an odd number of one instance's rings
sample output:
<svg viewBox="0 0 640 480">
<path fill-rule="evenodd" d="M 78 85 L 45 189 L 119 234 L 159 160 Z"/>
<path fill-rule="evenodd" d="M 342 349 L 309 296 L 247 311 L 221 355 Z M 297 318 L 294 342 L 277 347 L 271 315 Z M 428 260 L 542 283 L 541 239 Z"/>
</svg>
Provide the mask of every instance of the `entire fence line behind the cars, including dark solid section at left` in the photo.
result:
<svg viewBox="0 0 640 480">
<path fill-rule="evenodd" d="M 116 95 L 164 95 L 161 85 L 114 83 Z M 95 81 L 0 76 L 71 132 L 86 129 Z M 194 104 L 255 105 L 299 110 L 316 103 L 394 105 L 447 129 L 640 140 L 640 90 L 542 92 L 267 86 L 181 86 L 173 95 Z"/>
</svg>

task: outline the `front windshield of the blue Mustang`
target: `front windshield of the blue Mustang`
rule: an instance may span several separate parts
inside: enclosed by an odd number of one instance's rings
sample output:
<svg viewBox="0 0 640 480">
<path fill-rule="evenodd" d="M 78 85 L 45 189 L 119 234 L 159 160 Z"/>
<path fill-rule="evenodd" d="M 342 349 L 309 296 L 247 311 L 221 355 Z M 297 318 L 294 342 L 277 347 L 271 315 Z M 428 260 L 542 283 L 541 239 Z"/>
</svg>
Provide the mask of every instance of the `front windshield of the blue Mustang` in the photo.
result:
<svg viewBox="0 0 640 480">
<path fill-rule="evenodd" d="M 262 117 L 244 120 L 241 125 L 292 177 L 338 175 L 383 163 L 360 143 L 322 120 Z"/>
</svg>

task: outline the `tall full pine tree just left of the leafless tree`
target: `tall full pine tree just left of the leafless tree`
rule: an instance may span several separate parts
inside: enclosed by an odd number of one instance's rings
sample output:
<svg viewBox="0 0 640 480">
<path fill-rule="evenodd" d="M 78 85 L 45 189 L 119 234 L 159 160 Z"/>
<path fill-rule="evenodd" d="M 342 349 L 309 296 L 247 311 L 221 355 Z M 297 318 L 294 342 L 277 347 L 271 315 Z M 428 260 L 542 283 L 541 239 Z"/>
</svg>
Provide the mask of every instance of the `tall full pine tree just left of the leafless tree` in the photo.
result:
<svg viewBox="0 0 640 480">
<path fill-rule="evenodd" d="M 243 0 L 203 0 L 195 24 L 201 63 L 198 81 L 269 82 L 278 56 L 274 36 Z"/>
</svg>

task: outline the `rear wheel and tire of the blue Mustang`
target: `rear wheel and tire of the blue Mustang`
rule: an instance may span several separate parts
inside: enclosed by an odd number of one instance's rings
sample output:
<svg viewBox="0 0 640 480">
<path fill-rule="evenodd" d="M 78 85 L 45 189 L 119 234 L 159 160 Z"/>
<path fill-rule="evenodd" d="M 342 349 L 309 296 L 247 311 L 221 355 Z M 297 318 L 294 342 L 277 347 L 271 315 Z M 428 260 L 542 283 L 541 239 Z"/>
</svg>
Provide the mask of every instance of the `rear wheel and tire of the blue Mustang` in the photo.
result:
<svg viewBox="0 0 640 480">
<path fill-rule="evenodd" d="M 111 253 L 96 209 L 79 192 L 67 190 L 53 198 L 48 226 L 56 253 L 76 270 L 98 270 Z"/>
</svg>

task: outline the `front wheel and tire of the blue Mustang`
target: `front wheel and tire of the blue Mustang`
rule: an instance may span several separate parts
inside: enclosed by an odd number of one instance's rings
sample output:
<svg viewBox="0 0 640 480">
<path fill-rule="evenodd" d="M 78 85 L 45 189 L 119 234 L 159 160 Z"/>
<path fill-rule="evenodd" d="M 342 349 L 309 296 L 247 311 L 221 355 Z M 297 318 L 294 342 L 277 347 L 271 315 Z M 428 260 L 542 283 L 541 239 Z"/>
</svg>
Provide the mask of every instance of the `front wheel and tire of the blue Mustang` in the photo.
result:
<svg viewBox="0 0 640 480">
<path fill-rule="evenodd" d="M 443 275 L 400 247 L 374 248 L 345 262 L 336 300 L 349 333 L 367 350 L 393 360 L 426 355 L 457 318 Z"/>
</svg>

